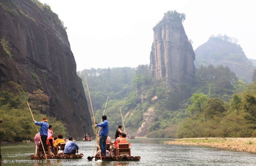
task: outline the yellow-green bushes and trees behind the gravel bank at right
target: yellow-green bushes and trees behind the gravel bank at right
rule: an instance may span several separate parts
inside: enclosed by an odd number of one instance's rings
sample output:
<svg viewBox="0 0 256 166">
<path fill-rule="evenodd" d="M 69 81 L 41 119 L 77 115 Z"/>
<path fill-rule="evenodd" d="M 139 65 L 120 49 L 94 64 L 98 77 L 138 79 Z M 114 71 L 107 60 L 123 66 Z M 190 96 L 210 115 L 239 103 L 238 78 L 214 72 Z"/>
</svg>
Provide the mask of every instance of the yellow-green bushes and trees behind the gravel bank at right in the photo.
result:
<svg viewBox="0 0 256 166">
<path fill-rule="evenodd" d="M 218 97 L 194 94 L 189 115 L 179 124 L 176 136 L 183 137 L 255 137 L 256 83 L 235 93 L 229 102 Z"/>
</svg>

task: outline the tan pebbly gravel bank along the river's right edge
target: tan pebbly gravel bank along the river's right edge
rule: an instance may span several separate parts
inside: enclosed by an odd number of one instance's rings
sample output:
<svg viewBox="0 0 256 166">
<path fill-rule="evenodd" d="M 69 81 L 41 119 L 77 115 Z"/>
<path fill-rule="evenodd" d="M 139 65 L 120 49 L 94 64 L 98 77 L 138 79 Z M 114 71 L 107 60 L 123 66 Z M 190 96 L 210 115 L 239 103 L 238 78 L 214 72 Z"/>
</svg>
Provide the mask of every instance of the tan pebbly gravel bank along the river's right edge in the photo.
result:
<svg viewBox="0 0 256 166">
<path fill-rule="evenodd" d="M 165 141 L 172 145 L 203 145 L 256 153 L 256 138 L 184 138 Z"/>
</svg>

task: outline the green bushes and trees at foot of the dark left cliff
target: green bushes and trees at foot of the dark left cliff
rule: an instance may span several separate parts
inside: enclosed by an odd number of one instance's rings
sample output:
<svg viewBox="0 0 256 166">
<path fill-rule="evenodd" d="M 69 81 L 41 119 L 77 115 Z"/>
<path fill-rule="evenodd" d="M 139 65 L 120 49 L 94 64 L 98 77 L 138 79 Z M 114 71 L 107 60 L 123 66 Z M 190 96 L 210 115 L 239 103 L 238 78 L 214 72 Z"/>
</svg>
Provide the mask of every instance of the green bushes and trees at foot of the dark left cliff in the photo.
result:
<svg viewBox="0 0 256 166">
<path fill-rule="evenodd" d="M 66 127 L 61 121 L 40 113 L 41 104 L 49 99 L 42 90 L 38 89 L 33 91 L 33 94 L 28 94 L 21 85 L 10 81 L 0 87 L 0 115 L 4 119 L 0 128 L 0 140 L 34 139 L 37 131 L 26 102 L 28 99 L 32 108 L 39 108 L 32 109 L 35 120 L 41 121 L 43 117 L 47 117 L 55 134 L 61 133 L 67 136 Z M 37 128 L 40 129 L 40 127 Z"/>
</svg>

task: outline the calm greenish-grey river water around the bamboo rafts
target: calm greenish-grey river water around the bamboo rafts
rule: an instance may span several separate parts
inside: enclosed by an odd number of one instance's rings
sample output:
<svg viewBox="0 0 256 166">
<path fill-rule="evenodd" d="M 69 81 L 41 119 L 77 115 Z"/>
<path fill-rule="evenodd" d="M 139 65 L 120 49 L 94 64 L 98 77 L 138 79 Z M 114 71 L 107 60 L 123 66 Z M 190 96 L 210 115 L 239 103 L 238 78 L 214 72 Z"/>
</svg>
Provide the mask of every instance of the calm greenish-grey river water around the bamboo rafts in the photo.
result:
<svg viewBox="0 0 256 166">
<path fill-rule="evenodd" d="M 69 165 L 93 165 L 93 166 L 162 166 L 162 165 L 256 165 L 256 154 L 238 152 L 234 150 L 210 148 L 204 146 L 165 145 L 163 141 L 172 139 L 141 138 L 128 140 L 131 143 L 131 155 L 140 156 L 140 161 L 104 161 L 92 162 L 87 156 L 92 156 L 95 140 L 83 142 L 76 141 L 79 145 L 79 154 L 84 157 L 76 159 L 78 163 L 63 163 L 63 160 L 47 160 L 48 163 L 18 163 L 39 160 L 30 160 L 30 155 L 35 153 L 34 143 L 16 143 L 1 146 L 2 165 L 29 165 L 29 166 L 69 166 Z M 5 162 L 7 163 L 4 163 Z M 8 160 L 8 161 L 6 161 Z M 10 163 L 13 162 L 13 163 Z M 45 160 L 40 160 L 45 161 Z M 9 163 L 8 163 L 9 162 Z M 55 163 L 57 162 L 57 163 Z"/>
</svg>

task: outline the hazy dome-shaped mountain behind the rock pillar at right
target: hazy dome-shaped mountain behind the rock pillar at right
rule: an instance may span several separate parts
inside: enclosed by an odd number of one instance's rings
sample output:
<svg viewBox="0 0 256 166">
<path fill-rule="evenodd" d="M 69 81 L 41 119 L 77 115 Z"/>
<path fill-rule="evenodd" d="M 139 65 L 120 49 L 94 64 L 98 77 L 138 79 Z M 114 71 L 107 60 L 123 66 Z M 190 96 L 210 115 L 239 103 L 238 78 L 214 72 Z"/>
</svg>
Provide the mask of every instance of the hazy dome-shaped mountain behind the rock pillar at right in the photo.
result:
<svg viewBox="0 0 256 166">
<path fill-rule="evenodd" d="M 221 64 L 228 66 L 240 79 L 244 80 L 246 78 L 252 81 L 252 72 L 255 67 L 252 61 L 244 54 L 242 47 L 229 41 L 231 39 L 225 35 L 210 37 L 207 42 L 196 48 L 195 65 L 199 67 L 201 64 L 206 66 L 209 64 L 214 66 Z"/>
</svg>

